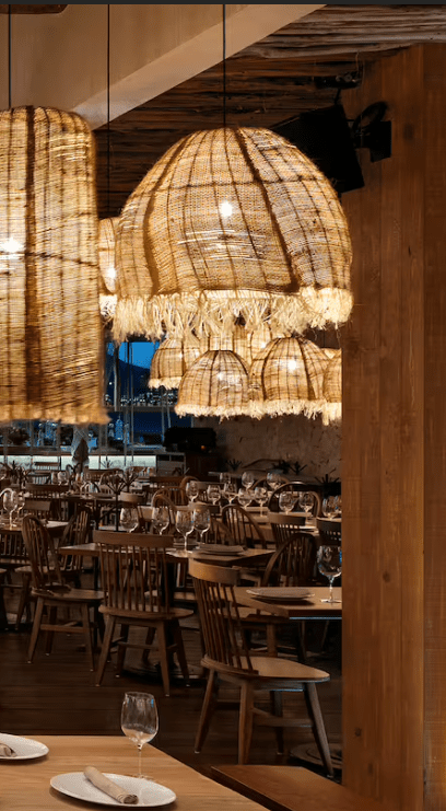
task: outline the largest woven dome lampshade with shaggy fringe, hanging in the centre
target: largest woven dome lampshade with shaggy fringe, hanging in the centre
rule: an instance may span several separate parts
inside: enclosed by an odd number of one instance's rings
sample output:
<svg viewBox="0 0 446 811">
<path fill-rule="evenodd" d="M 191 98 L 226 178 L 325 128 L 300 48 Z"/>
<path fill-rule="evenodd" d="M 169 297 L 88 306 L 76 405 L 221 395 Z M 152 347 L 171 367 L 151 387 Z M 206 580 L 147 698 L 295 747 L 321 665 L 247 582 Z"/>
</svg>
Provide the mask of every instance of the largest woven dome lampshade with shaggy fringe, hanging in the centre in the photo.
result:
<svg viewBox="0 0 446 811">
<path fill-rule="evenodd" d="M 119 217 L 114 336 L 341 324 L 351 243 L 325 175 L 268 129 L 193 132 L 172 147 Z"/>
</svg>

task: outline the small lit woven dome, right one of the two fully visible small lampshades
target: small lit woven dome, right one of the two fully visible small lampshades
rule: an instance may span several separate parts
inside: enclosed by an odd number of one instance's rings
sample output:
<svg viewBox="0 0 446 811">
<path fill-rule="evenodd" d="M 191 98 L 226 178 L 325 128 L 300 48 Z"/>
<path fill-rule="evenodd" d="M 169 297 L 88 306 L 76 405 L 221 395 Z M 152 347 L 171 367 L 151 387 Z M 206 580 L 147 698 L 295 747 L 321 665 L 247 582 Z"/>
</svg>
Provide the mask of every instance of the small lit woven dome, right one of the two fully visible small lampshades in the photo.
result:
<svg viewBox="0 0 446 811">
<path fill-rule="evenodd" d="M 249 376 L 253 417 L 305 414 L 324 406 L 322 385 L 328 358 L 303 338 L 275 338 L 253 361 Z"/>
</svg>

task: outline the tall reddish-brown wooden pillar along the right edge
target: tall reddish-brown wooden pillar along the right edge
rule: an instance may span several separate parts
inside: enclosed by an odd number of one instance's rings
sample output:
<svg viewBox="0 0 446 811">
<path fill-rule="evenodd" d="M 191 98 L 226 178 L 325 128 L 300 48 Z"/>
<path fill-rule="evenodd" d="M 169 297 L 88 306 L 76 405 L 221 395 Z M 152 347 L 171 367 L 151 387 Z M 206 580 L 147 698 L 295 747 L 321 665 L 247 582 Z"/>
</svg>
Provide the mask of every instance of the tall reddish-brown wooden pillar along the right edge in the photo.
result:
<svg viewBox="0 0 446 811">
<path fill-rule="evenodd" d="M 392 157 L 344 195 L 343 783 L 446 808 L 446 46 L 366 67 L 350 118 L 385 101 Z"/>
</svg>

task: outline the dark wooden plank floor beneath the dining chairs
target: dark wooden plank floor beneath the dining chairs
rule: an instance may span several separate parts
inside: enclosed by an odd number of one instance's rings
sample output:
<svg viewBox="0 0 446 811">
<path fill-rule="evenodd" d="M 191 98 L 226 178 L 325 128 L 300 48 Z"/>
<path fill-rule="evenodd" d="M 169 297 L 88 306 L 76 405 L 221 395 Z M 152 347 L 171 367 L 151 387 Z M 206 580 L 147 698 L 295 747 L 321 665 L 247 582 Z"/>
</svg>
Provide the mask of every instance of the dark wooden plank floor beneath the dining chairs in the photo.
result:
<svg viewBox="0 0 446 811">
<path fill-rule="evenodd" d="M 5 588 L 9 616 L 13 618 L 15 596 Z M 185 621 L 184 638 L 192 671 L 199 674 L 199 637 L 195 617 Z M 332 623 L 338 626 L 339 623 Z M 192 677 L 190 686 L 174 679 L 171 696 L 163 695 L 156 668 L 156 651 L 151 652 L 149 669 L 142 664 L 140 651 L 129 651 L 126 672 L 115 676 L 114 661 L 108 663 L 101 687 L 94 685 L 86 656 L 79 647 L 79 637 L 56 635 L 49 657 L 39 640 L 32 664 L 26 663 L 30 629 L 0 634 L 0 730 L 13 734 L 116 734 L 120 732 L 120 705 L 127 690 L 142 690 L 155 695 L 160 712 L 160 732 L 153 744 L 183 763 L 210 776 L 210 767 L 237 762 L 237 711 L 218 710 L 200 754 L 193 752 L 193 738 L 201 708 L 204 681 Z M 339 669 L 339 633 L 333 627 L 331 641 L 324 654 L 312 657 L 308 663 L 327 670 L 331 681 L 318 685 L 318 694 L 330 743 L 339 743 L 341 732 L 341 675 Z M 230 693 L 222 695 L 231 698 Z M 286 696 L 285 711 L 306 717 L 301 694 Z M 277 755 L 273 731 L 257 728 L 253 739 L 250 762 L 256 764 L 306 765 L 290 756 L 290 749 L 313 741 L 308 729 L 285 730 L 286 753 Z M 129 742 L 129 746 L 132 745 Z M 137 756 L 137 755 L 136 755 Z M 340 773 L 337 774 L 337 779 Z"/>
</svg>

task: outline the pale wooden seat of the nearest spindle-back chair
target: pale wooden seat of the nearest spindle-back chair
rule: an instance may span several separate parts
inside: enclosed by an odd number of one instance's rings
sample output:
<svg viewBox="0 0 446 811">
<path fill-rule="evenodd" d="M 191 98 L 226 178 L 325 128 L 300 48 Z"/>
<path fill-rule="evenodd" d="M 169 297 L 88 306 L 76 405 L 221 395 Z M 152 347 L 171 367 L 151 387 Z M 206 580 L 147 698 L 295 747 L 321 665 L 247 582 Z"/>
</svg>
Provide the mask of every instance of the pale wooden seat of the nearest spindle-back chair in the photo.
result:
<svg viewBox="0 0 446 811">
<path fill-rule="evenodd" d="M 246 659 L 242 659 L 242 665 L 247 667 Z M 301 664 L 301 662 L 293 662 L 289 659 L 280 659 L 279 657 L 255 657 L 251 661 L 255 671 L 234 670 L 227 667 L 227 670 L 220 662 L 215 662 L 209 657 L 203 657 L 201 664 L 203 668 L 210 670 L 216 670 L 220 675 L 224 679 L 225 673 L 228 677 L 233 675 L 235 677 L 240 676 L 242 679 L 253 679 L 255 681 L 270 682 L 273 680 L 278 682 L 278 690 L 280 690 L 279 681 L 298 681 L 298 682 L 328 682 L 330 674 L 325 670 L 317 670 L 316 668 L 309 668 L 307 664 Z"/>
</svg>

